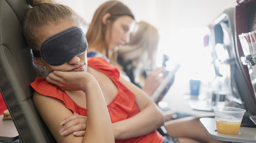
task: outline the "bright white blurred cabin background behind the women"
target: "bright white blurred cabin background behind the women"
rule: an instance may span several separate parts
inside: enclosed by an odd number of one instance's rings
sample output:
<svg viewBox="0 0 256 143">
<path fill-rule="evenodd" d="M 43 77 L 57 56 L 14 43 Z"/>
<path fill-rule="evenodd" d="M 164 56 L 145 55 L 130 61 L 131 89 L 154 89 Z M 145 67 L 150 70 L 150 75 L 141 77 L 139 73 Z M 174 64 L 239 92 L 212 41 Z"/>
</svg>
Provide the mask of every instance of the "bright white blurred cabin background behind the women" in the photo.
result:
<svg viewBox="0 0 256 143">
<path fill-rule="evenodd" d="M 107 0 L 56 0 L 73 8 L 90 24 L 96 8 Z M 169 108 L 196 116 L 211 112 L 192 110 L 185 100 L 190 93 L 189 80 L 197 77 L 203 84 L 215 78 L 209 51 L 203 46 L 203 37 L 210 25 L 227 8 L 235 7 L 236 0 L 119 0 L 127 5 L 136 21 L 146 21 L 159 29 L 160 43 L 157 65 L 162 65 L 163 54 L 169 56 L 167 69 L 176 63 L 181 68 L 163 102 Z M 85 27 L 86 29 L 86 27 Z M 170 68 L 171 69 L 171 68 Z"/>
</svg>

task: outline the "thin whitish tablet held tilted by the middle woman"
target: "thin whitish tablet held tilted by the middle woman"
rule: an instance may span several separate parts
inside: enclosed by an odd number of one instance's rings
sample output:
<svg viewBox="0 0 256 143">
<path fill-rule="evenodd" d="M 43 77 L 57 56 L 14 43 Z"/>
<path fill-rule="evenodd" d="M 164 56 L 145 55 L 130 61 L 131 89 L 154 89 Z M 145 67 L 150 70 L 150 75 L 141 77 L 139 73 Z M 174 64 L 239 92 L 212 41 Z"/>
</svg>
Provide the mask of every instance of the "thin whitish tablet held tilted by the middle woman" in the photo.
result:
<svg viewBox="0 0 256 143">
<path fill-rule="evenodd" d="M 160 94 L 162 93 L 162 91 L 164 90 L 164 88 L 168 85 L 168 83 L 173 79 L 175 73 L 179 70 L 179 68 L 181 67 L 180 64 L 176 64 L 176 66 L 174 67 L 174 69 L 172 71 L 169 71 L 166 75 L 166 77 L 164 78 L 163 82 L 160 83 L 160 85 L 157 87 L 157 89 L 155 90 L 155 92 L 150 96 L 150 98 L 154 101 L 157 102 Z"/>
</svg>

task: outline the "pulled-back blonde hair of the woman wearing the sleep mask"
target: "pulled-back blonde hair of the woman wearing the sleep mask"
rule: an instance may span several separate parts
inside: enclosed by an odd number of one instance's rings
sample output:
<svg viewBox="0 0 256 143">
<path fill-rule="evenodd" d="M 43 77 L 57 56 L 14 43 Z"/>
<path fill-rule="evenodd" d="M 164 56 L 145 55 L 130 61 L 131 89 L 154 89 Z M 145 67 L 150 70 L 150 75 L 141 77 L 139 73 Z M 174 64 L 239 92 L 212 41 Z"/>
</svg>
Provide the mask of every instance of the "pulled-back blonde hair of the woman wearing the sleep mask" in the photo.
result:
<svg viewBox="0 0 256 143">
<path fill-rule="evenodd" d="M 56 4 L 53 0 L 28 0 L 30 8 L 24 18 L 24 37 L 33 50 L 40 46 L 37 40 L 43 32 L 43 26 L 72 21 L 79 25 L 77 14 L 68 6 Z"/>
</svg>

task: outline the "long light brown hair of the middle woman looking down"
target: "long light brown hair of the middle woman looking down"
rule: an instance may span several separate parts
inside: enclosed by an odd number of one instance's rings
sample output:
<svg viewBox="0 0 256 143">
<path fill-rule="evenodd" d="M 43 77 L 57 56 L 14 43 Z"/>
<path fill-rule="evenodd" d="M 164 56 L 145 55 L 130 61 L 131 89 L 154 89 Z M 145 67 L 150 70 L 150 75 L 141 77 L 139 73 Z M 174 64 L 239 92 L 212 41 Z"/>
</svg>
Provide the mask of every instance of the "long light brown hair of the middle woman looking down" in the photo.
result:
<svg viewBox="0 0 256 143">
<path fill-rule="evenodd" d="M 86 39 L 89 45 L 88 48 L 96 47 L 96 45 L 99 43 L 105 44 L 104 41 L 107 27 L 106 24 L 102 23 L 102 18 L 106 13 L 111 14 L 111 16 L 107 19 L 110 21 L 110 24 L 112 24 L 117 18 L 124 15 L 128 15 L 134 19 L 134 15 L 132 14 L 131 10 L 123 3 L 115 0 L 103 3 L 99 8 L 97 8 L 87 31 Z M 96 48 L 97 51 L 102 51 L 105 47 L 98 46 Z M 112 58 L 110 57 L 112 55 L 109 55 L 108 51 L 106 56 L 110 59 Z"/>
</svg>

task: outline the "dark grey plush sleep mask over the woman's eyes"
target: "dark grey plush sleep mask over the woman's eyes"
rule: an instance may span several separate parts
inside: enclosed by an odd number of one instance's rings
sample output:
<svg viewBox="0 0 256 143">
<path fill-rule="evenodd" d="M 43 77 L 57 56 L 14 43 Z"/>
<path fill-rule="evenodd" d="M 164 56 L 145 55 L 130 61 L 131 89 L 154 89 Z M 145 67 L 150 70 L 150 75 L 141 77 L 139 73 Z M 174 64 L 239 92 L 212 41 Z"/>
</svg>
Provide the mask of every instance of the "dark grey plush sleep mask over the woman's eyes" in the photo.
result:
<svg viewBox="0 0 256 143">
<path fill-rule="evenodd" d="M 83 54 L 87 45 L 83 30 L 74 26 L 49 37 L 42 43 L 40 51 L 32 52 L 33 56 L 42 57 L 48 64 L 59 66 Z"/>
</svg>

